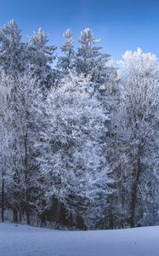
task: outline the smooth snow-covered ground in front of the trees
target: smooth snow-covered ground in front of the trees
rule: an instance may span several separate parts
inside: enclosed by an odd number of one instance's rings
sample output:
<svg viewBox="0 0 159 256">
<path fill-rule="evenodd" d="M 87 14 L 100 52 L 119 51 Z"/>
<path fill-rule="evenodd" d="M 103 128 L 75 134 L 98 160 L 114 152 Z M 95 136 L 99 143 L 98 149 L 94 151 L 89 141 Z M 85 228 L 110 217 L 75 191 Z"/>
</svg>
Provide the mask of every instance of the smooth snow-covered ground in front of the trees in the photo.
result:
<svg viewBox="0 0 159 256">
<path fill-rule="evenodd" d="M 0 224 L 0 256 L 159 256 L 159 226 L 58 231 Z"/>
</svg>

